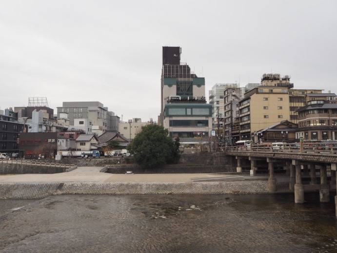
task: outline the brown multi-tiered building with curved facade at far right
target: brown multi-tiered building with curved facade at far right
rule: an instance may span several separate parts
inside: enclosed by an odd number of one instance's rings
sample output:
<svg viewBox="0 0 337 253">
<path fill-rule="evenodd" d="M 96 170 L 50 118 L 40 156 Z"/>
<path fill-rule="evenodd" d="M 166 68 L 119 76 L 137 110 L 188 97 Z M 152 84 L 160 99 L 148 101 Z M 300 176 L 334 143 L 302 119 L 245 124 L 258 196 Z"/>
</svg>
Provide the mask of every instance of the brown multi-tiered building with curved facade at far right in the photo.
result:
<svg viewBox="0 0 337 253">
<path fill-rule="evenodd" d="M 335 93 L 310 93 L 306 106 L 297 110 L 297 138 L 307 141 L 336 140 L 337 95 Z"/>
</svg>

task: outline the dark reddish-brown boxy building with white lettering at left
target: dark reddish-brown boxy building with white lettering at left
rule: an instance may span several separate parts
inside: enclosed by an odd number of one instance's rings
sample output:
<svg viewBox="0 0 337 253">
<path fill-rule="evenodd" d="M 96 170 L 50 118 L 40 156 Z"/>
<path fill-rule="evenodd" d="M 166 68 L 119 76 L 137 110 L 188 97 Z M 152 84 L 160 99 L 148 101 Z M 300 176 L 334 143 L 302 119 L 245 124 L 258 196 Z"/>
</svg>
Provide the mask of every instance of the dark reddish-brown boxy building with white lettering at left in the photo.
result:
<svg viewBox="0 0 337 253">
<path fill-rule="evenodd" d="M 58 133 L 21 133 L 20 149 L 25 159 L 54 158 L 57 154 Z"/>
</svg>

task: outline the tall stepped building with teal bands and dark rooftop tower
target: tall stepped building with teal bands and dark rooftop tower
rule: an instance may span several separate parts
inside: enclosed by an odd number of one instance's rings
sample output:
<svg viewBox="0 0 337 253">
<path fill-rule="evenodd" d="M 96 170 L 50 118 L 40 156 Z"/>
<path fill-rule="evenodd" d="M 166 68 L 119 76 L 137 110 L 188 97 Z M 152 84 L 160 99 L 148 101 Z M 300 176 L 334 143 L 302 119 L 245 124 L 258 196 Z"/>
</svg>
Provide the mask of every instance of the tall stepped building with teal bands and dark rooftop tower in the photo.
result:
<svg viewBox="0 0 337 253">
<path fill-rule="evenodd" d="M 180 54 L 180 47 L 162 48 L 159 123 L 181 144 L 206 142 L 212 131 L 212 105 L 206 102 L 205 78 L 180 63 Z"/>
</svg>

